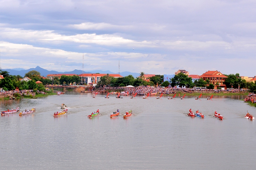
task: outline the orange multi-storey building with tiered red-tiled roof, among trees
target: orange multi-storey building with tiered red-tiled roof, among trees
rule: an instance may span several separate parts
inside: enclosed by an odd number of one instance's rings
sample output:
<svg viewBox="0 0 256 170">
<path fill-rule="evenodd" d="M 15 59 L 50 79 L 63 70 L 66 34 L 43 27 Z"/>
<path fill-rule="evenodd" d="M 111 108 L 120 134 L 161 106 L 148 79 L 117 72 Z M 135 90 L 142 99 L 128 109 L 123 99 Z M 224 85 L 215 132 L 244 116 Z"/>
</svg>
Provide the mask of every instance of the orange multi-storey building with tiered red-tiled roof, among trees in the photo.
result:
<svg viewBox="0 0 256 170">
<path fill-rule="evenodd" d="M 204 74 L 200 75 L 199 78 L 202 78 L 203 80 L 210 80 L 210 83 L 215 85 L 216 83 L 219 83 L 220 88 L 226 89 L 226 85 L 224 84 L 224 81 L 227 79 L 227 76 L 223 75 L 219 71 L 207 71 Z M 217 86 L 214 86 L 215 89 L 217 89 Z"/>
</svg>

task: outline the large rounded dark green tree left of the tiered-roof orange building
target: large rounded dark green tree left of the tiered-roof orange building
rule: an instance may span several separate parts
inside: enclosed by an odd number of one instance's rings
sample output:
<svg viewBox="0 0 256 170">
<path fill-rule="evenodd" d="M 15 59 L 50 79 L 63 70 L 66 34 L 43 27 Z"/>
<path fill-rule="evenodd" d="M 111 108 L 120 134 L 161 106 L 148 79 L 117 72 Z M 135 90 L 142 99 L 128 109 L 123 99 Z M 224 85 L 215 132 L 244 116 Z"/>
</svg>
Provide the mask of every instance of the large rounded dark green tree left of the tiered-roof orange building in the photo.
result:
<svg viewBox="0 0 256 170">
<path fill-rule="evenodd" d="M 174 78 L 171 79 L 171 86 L 186 86 L 186 87 L 193 87 L 194 83 L 192 82 L 192 78 L 188 77 L 188 75 L 179 73 L 174 75 Z"/>
</svg>

